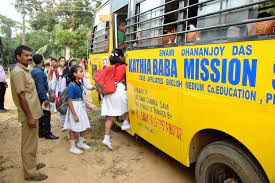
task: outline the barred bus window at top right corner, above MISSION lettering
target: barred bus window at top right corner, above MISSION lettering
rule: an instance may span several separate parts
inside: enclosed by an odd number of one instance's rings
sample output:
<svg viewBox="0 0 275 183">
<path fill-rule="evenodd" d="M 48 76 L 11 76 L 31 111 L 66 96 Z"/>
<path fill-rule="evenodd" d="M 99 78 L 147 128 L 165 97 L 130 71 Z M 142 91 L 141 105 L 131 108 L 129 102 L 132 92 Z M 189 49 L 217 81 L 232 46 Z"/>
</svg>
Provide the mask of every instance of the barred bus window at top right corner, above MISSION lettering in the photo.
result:
<svg viewBox="0 0 275 183">
<path fill-rule="evenodd" d="M 185 16 L 182 18 L 183 21 L 180 21 L 186 25 L 182 26 L 181 30 L 181 35 L 185 39 L 181 41 L 207 41 L 273 34 L 275 1 L 261 1 L 263 0 L 186 0 L 183 8 Z M 266 17 L 270 17 L 270 20 L 259 22 L 259 19 Z"/>
</svg>

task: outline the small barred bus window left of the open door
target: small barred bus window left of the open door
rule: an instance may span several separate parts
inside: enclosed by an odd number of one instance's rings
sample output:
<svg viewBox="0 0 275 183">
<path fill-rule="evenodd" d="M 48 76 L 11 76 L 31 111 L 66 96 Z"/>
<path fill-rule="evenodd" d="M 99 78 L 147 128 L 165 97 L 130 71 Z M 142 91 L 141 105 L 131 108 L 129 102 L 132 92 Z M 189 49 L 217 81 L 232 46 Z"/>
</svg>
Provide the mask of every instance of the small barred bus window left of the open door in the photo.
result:
<svg viewBox="0 0 275 183">
<path fill-rule="evenodd" d="M 102 22 L 94 27 L 92 34 L 91 53 L 109 51 L 109 22 Z"/>
</svg>

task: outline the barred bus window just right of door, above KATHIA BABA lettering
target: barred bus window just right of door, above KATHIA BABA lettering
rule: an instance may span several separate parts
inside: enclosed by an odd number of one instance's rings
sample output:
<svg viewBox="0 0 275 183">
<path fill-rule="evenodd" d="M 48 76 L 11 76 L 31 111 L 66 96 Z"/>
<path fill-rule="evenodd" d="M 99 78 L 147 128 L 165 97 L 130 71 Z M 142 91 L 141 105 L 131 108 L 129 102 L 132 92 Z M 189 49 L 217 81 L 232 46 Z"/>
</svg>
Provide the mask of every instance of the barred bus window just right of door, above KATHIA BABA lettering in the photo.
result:
<svg viewBox="0 0 275 183">
<path fill-rule="evenodd" d="M 133 47 L 176 42 L 179 1 L 145 0 L 136 5 Z"/>
</svg>

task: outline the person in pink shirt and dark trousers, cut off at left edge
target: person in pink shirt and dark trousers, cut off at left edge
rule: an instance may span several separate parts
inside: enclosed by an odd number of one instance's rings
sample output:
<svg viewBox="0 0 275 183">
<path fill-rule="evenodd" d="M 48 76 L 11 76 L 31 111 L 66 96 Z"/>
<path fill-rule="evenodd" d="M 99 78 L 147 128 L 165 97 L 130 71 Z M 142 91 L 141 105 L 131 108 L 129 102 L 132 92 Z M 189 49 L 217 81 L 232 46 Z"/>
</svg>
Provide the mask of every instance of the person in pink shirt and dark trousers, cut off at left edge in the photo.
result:
<svg viewBox="0 0 275 183">
<path fill-rule="evenodd" d="M 4 107 L 5 94 L 6 94 L 7 88 L 8 88 L 8 83 L 7 83 L 6 73 L 3 68 L 3 60 L 0 59 L 0 113 L 8 111 Z"/>
</svg>

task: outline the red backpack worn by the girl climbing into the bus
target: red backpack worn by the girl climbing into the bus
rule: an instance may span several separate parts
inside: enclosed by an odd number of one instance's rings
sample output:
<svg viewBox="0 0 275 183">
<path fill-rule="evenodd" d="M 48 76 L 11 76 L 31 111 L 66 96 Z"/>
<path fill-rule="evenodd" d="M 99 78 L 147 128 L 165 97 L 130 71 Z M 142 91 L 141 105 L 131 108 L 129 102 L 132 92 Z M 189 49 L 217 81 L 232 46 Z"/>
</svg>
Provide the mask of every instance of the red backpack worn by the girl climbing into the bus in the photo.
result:
<svg viewBox="0 0 275 183">
<path fill-rule="evenodd" d="M 98 94 L 108 95 L 116 91 L 115 71 L 116 65 L 111 65 L 96 71 L 94 80 Z"/>
</svg>

